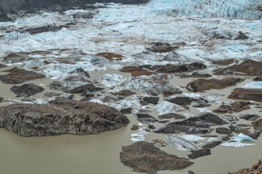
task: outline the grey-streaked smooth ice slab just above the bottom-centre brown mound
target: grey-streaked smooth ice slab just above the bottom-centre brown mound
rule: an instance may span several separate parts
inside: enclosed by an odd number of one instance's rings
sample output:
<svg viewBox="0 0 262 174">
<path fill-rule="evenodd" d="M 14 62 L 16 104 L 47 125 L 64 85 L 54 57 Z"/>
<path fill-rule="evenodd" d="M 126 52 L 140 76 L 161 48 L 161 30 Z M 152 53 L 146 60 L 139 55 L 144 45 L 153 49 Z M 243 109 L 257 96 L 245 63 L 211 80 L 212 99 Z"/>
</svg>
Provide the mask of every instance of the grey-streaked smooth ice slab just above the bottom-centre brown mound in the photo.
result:
<svg viewBox="0 0 262 174">
<path fill-rule="evenodd" d="M 167 134 L 165 135 L 165 138 L 168 140 L 168 143 L 170 143 L 172 146 L 177 147 L 179 151 L 199 149 L 199 146 L 197 146 L 193 142 L 185 140 L 184 138 L 180 138 L 179 136 L 176 135 Z"/>
</svg>

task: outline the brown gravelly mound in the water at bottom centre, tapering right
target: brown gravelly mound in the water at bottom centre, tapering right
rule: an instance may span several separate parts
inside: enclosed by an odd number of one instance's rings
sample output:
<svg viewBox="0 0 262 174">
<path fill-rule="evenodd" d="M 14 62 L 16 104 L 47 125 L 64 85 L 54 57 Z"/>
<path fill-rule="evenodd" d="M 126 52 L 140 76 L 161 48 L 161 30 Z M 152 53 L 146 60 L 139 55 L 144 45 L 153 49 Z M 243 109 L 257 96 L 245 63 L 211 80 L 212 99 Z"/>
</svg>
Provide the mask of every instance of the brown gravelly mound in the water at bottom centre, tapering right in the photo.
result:
<svg viewBox="0 0 262 174">
<path fill-rule="evenodd" d="M 136 142 L 123 146 L 120 160 L 135 172 L 155 174 L 164 170 L 179 170 L 194 164 L 186 158 L 170 155 L 149 142 Z"/>
</svg>

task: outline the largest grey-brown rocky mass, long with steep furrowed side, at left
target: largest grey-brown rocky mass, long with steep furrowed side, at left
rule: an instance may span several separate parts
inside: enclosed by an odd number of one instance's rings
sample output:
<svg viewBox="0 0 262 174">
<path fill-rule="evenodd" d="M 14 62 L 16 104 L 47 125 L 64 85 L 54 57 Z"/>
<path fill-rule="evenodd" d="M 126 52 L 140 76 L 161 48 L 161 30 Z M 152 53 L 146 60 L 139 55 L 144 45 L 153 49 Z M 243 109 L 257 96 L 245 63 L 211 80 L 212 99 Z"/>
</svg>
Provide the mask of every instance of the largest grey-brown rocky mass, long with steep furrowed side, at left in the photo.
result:
<svg viewBox="0 0 262 174">
<path fill-rule="evenodd" d="M 96 134 L 120 129 L 129 122 L 112 107 L 67 98 L 56 98 L 48 105 L 0 107 L 0 128 L 21 136 Z"/>
</svg>

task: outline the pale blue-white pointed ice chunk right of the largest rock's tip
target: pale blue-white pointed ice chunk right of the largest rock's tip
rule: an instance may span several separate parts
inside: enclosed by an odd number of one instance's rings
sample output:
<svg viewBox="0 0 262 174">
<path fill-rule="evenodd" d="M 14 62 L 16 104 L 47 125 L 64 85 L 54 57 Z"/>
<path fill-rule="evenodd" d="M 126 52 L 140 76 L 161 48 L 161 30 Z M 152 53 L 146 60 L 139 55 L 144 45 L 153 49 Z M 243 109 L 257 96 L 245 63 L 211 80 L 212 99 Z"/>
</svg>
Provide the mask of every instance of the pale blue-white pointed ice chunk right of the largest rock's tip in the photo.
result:
<svg viewBox="0 0 262 174">
<path fill-rule="evenodd" d="M 184 111 L 185 109 L 179 105 L 176 105 L 172 102 L 162 101 L 159 105 L 157 105 L 157 111 L 160 115 L 165 113 L 179 112 Z"/>
</svg>

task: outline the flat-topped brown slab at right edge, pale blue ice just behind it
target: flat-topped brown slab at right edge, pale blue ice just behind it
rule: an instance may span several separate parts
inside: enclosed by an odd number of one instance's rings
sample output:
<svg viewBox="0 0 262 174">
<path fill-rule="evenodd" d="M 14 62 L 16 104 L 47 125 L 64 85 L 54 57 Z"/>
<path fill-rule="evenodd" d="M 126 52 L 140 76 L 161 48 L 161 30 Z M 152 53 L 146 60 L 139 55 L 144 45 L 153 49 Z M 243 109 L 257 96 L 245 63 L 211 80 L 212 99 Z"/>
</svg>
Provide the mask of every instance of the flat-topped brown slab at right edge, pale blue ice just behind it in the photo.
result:
<svg viewBox="0 0 262 174">
<path fill-rule="evenodd" d="M 236 100 L 253 100 L 255 102 L 262 102 L 262 89 L 242 89 L 236 88 L 231 92 L 230 99 Z"/>
</svg>

